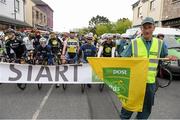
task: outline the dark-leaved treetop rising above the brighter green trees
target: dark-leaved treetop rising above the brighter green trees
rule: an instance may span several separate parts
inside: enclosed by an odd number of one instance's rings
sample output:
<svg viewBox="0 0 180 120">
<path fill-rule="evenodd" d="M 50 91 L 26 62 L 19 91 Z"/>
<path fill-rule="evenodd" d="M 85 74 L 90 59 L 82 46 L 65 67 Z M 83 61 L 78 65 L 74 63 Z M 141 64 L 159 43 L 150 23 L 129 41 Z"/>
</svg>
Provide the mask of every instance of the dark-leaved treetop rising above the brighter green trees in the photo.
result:
<svg viewBox="0 0 180 120">
<path fill-rule="evenodd" d="M 92 17 L 89 21 L 89 27 L 94 28 L 98 24 L 110 23 L 110 20 L 107 17 L 97 15 L 96 17 Z"/>
</svg>

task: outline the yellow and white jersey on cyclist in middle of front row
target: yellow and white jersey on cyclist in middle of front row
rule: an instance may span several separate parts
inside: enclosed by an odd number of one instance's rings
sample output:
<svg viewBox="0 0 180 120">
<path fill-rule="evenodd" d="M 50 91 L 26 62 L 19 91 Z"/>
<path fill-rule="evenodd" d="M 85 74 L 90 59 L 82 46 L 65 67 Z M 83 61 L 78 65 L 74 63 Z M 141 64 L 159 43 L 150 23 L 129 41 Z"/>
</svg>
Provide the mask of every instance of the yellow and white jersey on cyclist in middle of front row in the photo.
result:
<svg viewBox="0 0 180 120">
<path fill-rule="evenodd" d="M 79 47 L 79 42 L 77 39 L 68 39 L 67 40 L 67 52 L 68 53 L 77 53 Z"/>
</svg>

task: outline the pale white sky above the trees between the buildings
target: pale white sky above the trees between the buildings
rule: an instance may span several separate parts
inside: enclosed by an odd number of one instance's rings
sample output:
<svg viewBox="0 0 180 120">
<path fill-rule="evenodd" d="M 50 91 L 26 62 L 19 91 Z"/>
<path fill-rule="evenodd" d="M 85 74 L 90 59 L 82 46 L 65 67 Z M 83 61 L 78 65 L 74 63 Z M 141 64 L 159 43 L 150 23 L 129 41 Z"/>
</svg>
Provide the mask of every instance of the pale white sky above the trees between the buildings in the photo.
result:
<svg viewBox="0 0 180 120">
<path fill-rule="evenodd" d="M 54 10 L 54 31 L 67 32 L 88 27 L 93 16 L 102 15 L 115 22 L 132 20 L 132 4 L 137 0 L 43 0 Z"/>
</svg>

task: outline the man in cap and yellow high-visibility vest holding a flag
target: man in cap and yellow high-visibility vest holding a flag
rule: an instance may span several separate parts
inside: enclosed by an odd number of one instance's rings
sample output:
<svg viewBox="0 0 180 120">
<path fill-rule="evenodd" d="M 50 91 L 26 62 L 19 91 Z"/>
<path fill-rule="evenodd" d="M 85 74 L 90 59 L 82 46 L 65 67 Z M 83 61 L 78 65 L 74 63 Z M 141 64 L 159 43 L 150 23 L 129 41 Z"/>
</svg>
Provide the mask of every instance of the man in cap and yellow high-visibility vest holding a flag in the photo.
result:
<svg viewBox="0 0 180 120">
<path fill-rule="evenodd" d="M 168 57 L 170 60 L 176 60 L 175 57 L 168 56 L 168 49 L 164 42 L 153 37 L 153 31 L 155 30 L 154 24 L 153 18 L 146 17 L 141 23 L 142 36 L 132 40 L 131 44 L 121 54 L 122 57 L 149 58 L 149 71 L 144 105 L 142 112 L 138 112 L 136 116 L 137 119 L 148 119 L 151 114 L 155 95 L 155 78 L 158 66 L 157 58 Z M 120 118 L 130 119 L 132 114 L 132 111 L 122 108 Z"/>
</svg>

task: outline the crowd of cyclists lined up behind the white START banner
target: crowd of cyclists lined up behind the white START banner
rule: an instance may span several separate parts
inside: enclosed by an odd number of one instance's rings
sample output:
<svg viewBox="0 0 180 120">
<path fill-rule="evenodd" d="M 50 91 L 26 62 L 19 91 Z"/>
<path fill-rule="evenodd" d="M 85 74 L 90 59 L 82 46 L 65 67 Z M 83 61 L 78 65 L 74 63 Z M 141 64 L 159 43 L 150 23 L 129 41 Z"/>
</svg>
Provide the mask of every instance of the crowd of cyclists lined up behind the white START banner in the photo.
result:
<svg viewBox="0 0 180 120">
<path fill-rule="evenodd" d="M 73 31 L 42 34 L 35 30 L 8 29 L 0 32 L 0 59 L 36 65 L 88 63 L 87 57 L 119 56 L 120 39 L 120 34 L 104 34 L 98 38 L 93 33 L 80 36 Z"/>
</svg>

